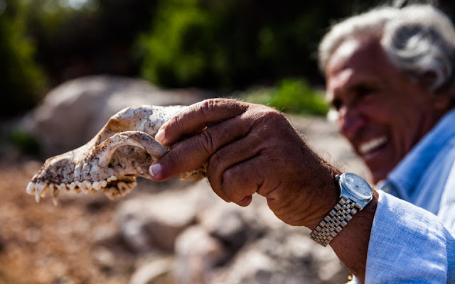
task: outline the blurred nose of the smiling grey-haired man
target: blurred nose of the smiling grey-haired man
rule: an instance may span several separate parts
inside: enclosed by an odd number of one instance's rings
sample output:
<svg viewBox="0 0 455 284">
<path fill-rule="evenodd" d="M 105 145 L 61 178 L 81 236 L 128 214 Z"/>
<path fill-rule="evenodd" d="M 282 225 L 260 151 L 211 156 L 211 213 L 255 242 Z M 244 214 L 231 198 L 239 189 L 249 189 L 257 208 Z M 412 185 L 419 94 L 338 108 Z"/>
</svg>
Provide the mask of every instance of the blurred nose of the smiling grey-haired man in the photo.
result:
<svg viewBox="0 0 455 284">
<path fill-rule="evenodd" d="M 347 138 L 353 138 L 365 125 L 365 116 L 356 107 L 338 110 L 338 130 Z"/>
</svg>

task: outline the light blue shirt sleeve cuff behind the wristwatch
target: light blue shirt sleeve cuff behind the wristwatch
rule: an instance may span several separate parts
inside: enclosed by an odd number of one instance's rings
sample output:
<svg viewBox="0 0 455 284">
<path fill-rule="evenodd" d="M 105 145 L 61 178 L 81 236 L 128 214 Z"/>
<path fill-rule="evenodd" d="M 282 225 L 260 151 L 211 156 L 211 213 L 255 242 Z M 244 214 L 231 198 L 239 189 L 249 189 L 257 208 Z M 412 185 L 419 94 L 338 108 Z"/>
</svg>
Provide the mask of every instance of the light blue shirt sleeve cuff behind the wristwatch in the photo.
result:
<svg viewBox="0 0 455 284">
<path fill-rule="evenodd" d="M 454 236 L 434 214 L 378 191 L 365 283 L 454 283 Z"/>
</svg>

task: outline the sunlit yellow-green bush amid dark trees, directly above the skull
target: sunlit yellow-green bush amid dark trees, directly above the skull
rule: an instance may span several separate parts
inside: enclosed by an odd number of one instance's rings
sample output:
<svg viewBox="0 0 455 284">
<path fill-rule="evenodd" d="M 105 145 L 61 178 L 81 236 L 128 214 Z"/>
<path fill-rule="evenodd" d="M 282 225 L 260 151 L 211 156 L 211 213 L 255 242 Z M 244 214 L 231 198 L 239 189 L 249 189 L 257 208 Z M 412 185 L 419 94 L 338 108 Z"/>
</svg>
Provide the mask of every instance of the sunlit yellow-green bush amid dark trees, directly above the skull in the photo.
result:
<svg viewBox="0 0 455 284">
<path fill-rule="evenodd" d="M 195 0 L 169 0 L 158 7 L 154 33 L 143 35 L 144 77 L 161 84 L 191 84 L 209 68 L 208 53 L 200 49 L 210 41 L 210 16 Z"/>
</svg>

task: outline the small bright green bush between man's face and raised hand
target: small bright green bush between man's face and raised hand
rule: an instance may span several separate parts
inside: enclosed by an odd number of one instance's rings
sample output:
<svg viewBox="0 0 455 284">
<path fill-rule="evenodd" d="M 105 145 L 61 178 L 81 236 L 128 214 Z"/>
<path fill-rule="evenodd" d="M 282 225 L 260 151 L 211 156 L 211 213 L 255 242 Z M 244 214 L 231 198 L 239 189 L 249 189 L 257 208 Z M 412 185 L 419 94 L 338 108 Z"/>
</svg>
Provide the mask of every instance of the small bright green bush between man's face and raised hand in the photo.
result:
<svg viewBox="0 0 455 284">
<path fill-rule="evenodd" d="M 323 95 L 311 89 L 306 81 L 299 79 L 288 78 L 280 81 L 277 87 L 255 89 L 247 92 L 244 99 L 291 114 L 325 115 L 328 111 Z"/>
</svg>

